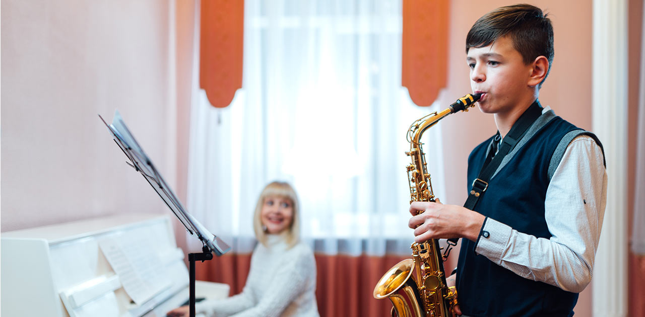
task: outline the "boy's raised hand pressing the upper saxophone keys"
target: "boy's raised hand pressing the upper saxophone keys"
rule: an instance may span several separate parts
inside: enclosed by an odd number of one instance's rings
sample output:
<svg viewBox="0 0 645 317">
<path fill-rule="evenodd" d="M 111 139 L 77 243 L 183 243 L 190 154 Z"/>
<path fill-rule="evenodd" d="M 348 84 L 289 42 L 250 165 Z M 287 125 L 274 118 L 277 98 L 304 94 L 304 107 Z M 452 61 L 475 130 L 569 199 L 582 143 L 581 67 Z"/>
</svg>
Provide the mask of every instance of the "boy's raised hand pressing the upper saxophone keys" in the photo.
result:
<svg viewBox="0 0 645 317">
<path fill-rule="evenodd" d="M 417 213 L 421 212 L 419 215 Z M 414 229 L 415 242 L 439 238 L 468 238 L 476 241 L 484 217 L 476 211 L 457 205 L 437 202 L 412 202 L 412 218 L 408 227 Z"/>
</svg>

